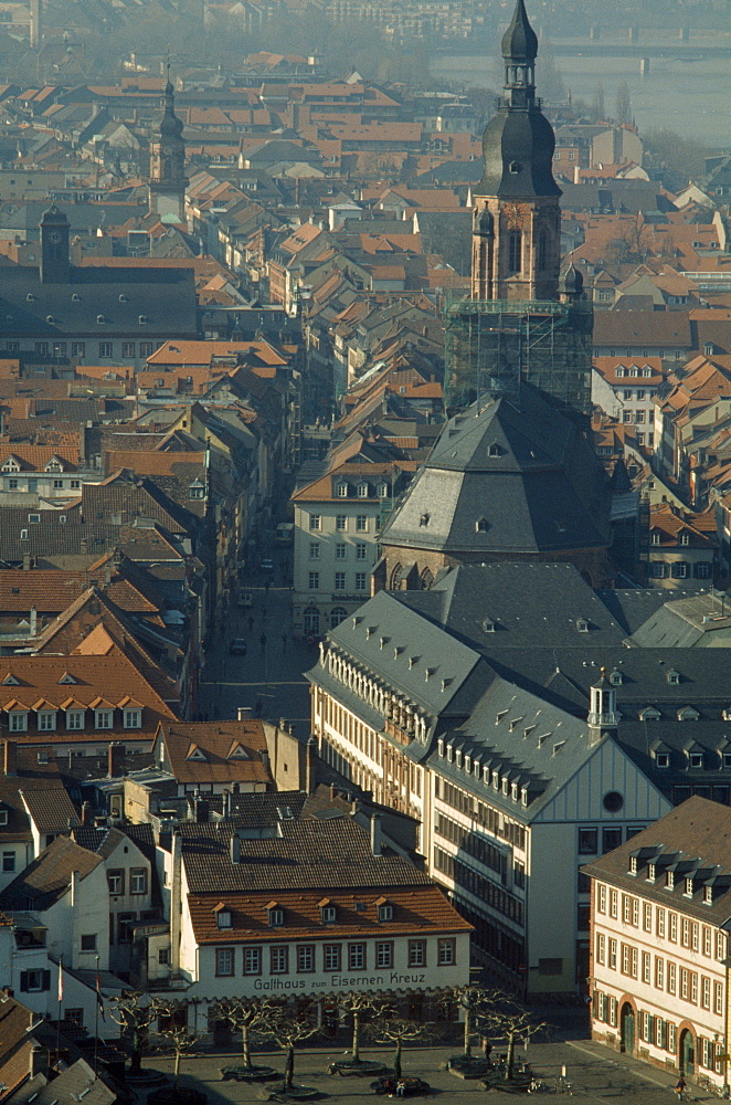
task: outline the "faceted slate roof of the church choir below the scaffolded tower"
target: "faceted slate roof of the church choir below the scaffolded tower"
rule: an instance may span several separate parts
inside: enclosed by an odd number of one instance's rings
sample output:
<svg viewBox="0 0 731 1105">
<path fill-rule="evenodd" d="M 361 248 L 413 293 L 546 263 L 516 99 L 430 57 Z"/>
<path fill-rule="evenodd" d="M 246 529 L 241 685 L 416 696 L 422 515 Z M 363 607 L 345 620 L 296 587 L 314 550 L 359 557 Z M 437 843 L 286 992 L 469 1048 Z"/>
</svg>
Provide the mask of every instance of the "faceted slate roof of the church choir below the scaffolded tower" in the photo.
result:
<svg viewBox="0 0 731 1105">
<path fill-rule="evenodd" d="M 382 543 L 446 552 L 608 544 L 610 484 L 570 415 L 529 385 L 451 419 Z"/>
</svg>

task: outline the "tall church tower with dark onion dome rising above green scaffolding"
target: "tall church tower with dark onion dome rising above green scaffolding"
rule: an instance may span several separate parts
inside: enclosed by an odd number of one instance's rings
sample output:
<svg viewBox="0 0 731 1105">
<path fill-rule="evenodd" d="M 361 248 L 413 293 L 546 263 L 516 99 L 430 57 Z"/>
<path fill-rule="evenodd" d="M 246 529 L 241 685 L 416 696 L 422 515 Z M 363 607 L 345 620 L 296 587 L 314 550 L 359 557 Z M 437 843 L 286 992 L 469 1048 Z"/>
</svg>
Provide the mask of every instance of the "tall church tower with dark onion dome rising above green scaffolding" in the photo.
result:
<svg viewBox="0 0 731 1105">
<path fill-rule="evenodd" d="M 523 0 L 502 36 L 504 96 L 483 137 L 474 190 L 473 299 L 558 299 L 561 189 L 553 128 L 536 98 L 538 39 Z"/>
</svg>

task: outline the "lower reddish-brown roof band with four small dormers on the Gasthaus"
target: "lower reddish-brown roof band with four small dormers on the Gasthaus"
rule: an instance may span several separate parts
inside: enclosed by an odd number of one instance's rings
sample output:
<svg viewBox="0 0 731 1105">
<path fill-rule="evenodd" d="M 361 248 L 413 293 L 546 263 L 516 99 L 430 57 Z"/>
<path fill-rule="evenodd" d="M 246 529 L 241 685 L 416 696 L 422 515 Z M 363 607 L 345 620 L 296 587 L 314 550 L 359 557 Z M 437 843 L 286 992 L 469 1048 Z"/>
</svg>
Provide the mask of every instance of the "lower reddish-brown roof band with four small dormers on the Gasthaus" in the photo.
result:
<svg viewBox="0 0 731 1105">
<path fill-rule="evenodd" d="M 337 911 L 337 922 L 324 925 L 318 903 L 327 892 L 328 904 Z M 285 923 L 271 928 L 266 906 L 272 893 L 284 909 Z M 231 928 L 216 925 L 214 907 L 223 899 L 231 911 Z M 379 922 L 378 903 L 393 906 L 393 919 Z M 262 891 L 258 894 L 190 894 L 191 922 L 199 944 L 276 941 L 320 938 L 324 940 L 373 937 L 383 939 L 411 934 L 427 936 L 442 933 L 464 933 L 472 925 L 459 916 L 438 886 L 389 886 L 388 883 L 362 891 L 330 890 L 329 881 L 309 892 Z M 364 908 L 357 908 L 358 906 Z"/>
</svg>

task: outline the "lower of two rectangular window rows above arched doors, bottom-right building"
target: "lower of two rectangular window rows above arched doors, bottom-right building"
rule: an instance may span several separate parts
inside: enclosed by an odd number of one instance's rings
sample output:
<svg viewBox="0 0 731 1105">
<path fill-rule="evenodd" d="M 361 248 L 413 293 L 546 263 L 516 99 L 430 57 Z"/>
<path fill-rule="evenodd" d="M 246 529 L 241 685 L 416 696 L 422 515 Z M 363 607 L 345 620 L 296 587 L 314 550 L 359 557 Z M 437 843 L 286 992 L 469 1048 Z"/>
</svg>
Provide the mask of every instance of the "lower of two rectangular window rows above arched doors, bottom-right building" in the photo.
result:
<svg viewBox="0 0 731 1105">
<path fill-rule="evenodd" d="M 667 991 L 693 1006 L 700 1004 L 701 1009 L 711 1009 L 712 996 L 713 1012 L 718 1015 L 723 1013 L 722 983 L 713 981 L 708 975 L 699 975 L 698 971 L 678 966 L 675 959 L 655 956 L 653 970 L 653 957 L 649 951 L 640 953 L 632 944 L 617 945 L 613 937 L 597 933 L 596 961 L 610 970 L 618 969 L 626 978 L 642 980 L 645 986 L 654 986 L 656 990 Z"/>
</svg>

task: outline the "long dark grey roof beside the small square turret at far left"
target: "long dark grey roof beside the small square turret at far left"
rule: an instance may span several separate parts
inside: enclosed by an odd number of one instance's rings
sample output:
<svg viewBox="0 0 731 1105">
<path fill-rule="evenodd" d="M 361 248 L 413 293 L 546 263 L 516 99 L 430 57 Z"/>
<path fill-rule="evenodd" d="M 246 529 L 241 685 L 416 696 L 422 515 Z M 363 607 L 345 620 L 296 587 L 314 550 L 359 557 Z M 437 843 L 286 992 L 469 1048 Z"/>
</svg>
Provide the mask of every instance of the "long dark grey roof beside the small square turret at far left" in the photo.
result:
<svg viewBox="0 0 731 1105">
<path fill-rule="evenodd" d="M 195 312 L 190 269 L 72 267 L 51 284 L 38 269 L 0 267 L 0 327 L 11 337 L 195 337 Z"/>
</svg>

